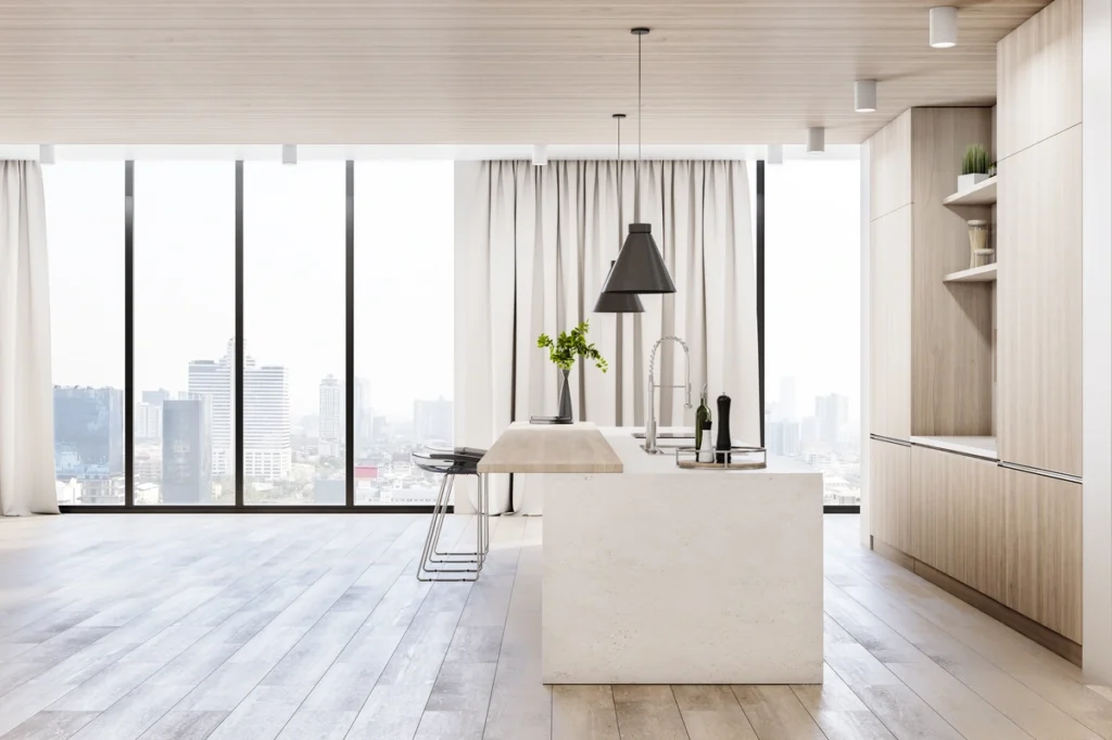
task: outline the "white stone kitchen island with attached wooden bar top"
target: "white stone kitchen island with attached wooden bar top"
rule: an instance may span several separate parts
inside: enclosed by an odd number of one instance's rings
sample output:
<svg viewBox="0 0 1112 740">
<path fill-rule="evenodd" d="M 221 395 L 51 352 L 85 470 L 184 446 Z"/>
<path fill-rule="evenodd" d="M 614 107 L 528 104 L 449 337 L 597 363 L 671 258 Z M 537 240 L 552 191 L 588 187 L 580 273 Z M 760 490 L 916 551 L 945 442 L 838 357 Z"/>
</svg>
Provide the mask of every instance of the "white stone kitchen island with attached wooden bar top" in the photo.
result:
<svg viewBox="0 0 1112 740">
<path fill-rule="evenodd" d="M 821 682 L 822 474 L 682 470 L 633 431 L 517 423 L 479 463 L 543 491 L 544 682 Z"/>
</svg>

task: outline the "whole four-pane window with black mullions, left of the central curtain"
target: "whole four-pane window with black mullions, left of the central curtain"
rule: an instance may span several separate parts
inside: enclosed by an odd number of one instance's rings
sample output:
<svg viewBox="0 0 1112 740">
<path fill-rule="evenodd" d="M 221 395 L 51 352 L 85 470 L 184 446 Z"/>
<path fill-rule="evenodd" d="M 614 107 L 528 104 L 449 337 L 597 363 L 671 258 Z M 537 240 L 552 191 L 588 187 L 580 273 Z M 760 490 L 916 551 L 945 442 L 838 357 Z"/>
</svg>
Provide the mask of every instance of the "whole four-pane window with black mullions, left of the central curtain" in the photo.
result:
<svg viewBox="0 0 1112 740">
<path fill-rule="evenodd" d="M 450 161 L 43 170 L 60 503 L 431 502 L 409 453 L 453 441 Z"/>
</svg>

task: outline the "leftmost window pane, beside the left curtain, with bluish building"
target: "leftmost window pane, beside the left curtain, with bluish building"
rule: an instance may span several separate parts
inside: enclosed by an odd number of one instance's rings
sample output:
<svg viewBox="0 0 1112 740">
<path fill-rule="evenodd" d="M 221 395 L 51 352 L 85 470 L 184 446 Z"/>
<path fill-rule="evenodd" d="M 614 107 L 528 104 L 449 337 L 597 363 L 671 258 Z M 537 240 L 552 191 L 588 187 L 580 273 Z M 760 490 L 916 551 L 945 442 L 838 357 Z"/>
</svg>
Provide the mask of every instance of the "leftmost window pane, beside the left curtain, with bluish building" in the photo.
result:
<svg viewBox="0 0 1112 740">
<path fill-rule="evenodd" d="M 123 163 L 59 163 L 43 184 L 58 502 L 122 504 Z"/>
</svg>

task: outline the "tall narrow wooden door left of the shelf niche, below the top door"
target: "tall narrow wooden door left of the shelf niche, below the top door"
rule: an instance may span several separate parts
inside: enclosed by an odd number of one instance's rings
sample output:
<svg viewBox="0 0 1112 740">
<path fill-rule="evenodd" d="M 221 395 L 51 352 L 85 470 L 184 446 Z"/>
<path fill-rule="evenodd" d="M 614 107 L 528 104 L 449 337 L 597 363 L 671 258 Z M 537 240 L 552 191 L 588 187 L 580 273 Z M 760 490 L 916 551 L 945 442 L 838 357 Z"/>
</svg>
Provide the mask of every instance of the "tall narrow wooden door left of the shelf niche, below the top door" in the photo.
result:
<svg viewBox="0 0 1112 740">
<path fill-rule="evenodd" d="M 871 224 L 870 432 L 911 437 L 912 207 Z"/>
</svg>

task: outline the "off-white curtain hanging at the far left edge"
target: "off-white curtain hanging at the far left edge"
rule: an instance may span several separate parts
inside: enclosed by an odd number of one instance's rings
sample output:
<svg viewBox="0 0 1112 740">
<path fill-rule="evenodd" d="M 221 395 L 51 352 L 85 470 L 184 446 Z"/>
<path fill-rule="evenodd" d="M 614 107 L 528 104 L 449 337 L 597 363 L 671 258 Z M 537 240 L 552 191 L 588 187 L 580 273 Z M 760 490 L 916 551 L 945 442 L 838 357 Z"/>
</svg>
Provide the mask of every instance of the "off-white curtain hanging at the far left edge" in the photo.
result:
<svg viewBox="0 0 1112 740">
<path fill-rule="evenodd" d="M 58 513 L 47 216 L 38 162 L 0 162 L 0 508 Z"/>
</svg>

